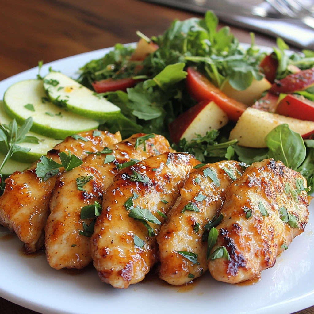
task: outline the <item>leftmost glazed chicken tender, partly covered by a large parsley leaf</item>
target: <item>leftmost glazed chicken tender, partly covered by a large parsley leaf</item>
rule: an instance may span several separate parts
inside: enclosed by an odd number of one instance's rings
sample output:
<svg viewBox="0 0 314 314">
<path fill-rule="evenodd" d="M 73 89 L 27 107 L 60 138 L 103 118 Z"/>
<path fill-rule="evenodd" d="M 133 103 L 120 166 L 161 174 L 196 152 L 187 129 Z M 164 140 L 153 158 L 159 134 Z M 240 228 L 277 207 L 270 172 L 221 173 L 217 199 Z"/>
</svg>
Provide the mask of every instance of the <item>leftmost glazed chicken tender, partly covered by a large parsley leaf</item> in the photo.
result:
<svg viewBox="0 0 314 314">
<path fill-rule="evenodd" d="M 47 153 L 47 157 L 60 163 L 58 153 L 70 151 L 84 158 L 86 151 L 101 150 L 107 145 L 121 141 L 120 133 L 101 132 L 93 136 L 93 130 L 79 133 L 88 141 L 67 137 Z M 49 200 L 57 176 L 43 181 L 35 173 L 37 162 L 29 170 L 14 172 L 5 182 L 5 190 L 0 197 L 0 224 L 15 232 L 25 243 L 28 252 L 35 252 L 44 244 L 44 229 L 49 215 Z"/>
</svg>

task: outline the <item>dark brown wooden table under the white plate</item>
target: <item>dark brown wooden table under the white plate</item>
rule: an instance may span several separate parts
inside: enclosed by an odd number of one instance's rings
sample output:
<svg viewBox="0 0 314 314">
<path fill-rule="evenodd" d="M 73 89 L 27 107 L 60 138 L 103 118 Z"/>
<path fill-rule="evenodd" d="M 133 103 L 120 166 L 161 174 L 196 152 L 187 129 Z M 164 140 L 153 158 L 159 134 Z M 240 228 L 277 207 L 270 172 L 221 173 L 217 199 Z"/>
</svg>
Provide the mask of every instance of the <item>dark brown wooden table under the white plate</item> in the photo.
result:
<svg viewBox="0 0 314 314">
<path fill-rule="evenodd" d="M 137 41 L 136 30 L 158 35 L 173 19 L 197 16 L 138 0 L 1 0 L 0 12 L 0 80 L 35 67 L 39 60 Z M 250 42 L 248 30 L 231 30 L 239 41 Z M 256 43 L 273 46 L 275 40 L 256 34 Z M 0 298 L 0 313 L 36 312 Z M 314 307 L 298 313 L 314 314 Z"/>
</svg>

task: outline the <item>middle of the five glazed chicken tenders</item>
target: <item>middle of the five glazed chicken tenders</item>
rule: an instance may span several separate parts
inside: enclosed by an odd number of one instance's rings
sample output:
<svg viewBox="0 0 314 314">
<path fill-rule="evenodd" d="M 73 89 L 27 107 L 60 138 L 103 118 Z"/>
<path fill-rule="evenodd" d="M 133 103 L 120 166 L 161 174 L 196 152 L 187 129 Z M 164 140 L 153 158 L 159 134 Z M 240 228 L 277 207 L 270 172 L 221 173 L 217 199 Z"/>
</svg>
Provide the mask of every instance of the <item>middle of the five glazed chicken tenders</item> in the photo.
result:
<svg viewBox="0 0 314 314">
<path fill-rule="evenodd" d="M 197 164 L 190 154 L 164 153 L 115 176 L 104 194 L 103 210 L 92 236 L 92 257 L 102 281 L 127 288 L 143 280 L 157 262 L 155 234 L 160 223 Z M 145 214 L 137 216 L 136 212 Z M 148 228 L 152 228 L 150 232 Z"/>
</svg>

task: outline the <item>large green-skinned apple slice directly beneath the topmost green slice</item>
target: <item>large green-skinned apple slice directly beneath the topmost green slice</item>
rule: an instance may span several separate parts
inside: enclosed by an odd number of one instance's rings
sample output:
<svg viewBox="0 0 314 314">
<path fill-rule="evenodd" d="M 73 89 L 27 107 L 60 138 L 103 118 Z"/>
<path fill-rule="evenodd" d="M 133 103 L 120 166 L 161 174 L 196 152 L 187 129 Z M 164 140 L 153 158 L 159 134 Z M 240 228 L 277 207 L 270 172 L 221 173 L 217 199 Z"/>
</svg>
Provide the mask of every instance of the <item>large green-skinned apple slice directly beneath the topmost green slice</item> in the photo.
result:
<svg viewBox="0 0 314 314">
<path fill-rule="evenodd" d="M 3 100 L 5 111 L 18 124 L 23 124 L 32 116 L 34 122 L 31 131 L 50 138 L 64 139 L 99 126 L 95 120 L 54 106 L 45 94 L 42 80 L 30 79 L 11 85 Z"/>
</svg>

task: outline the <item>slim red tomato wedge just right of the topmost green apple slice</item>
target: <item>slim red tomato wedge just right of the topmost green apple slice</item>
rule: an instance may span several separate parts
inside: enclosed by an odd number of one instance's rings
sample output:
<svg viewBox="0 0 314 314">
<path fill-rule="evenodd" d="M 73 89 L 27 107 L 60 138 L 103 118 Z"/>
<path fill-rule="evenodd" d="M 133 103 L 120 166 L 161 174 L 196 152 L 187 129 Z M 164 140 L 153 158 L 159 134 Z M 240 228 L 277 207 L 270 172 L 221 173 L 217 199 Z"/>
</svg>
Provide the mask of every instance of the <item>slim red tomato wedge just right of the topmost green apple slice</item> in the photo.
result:
<svg viewBox="0 0 314 314">
<path fill-rule="evenodd" d="M 139 81 L 133 78 L 120 78 L 116 80 L 107 78 L 95 81 L 92 85 L 96 93 L 114 92 L 116 90 L 123 90 L 125 92 L 127 88 L 134 87 Z"/>
</svg>

